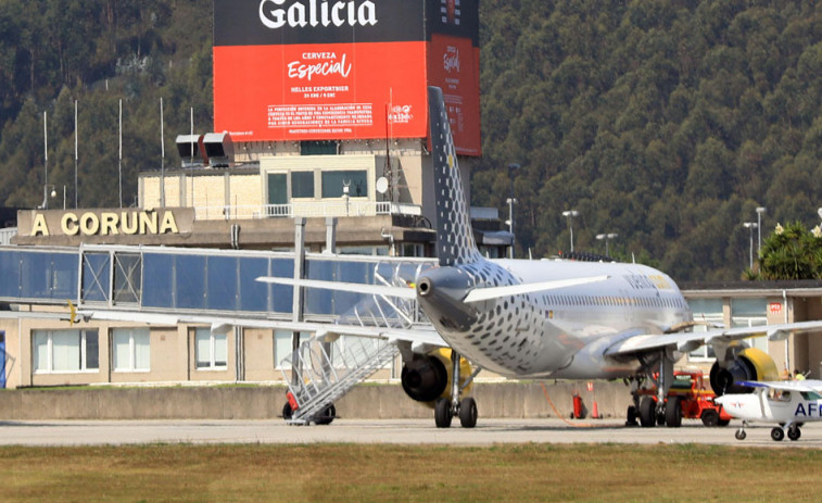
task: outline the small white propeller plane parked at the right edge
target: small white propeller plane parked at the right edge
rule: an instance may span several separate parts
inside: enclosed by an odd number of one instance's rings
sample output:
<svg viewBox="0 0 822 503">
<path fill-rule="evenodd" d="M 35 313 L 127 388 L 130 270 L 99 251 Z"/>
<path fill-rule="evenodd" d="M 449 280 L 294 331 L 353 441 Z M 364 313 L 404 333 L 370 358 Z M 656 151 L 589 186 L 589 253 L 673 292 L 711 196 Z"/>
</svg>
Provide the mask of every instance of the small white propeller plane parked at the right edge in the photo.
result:
<svg viewBox="0 0 822 503">
<path fill-rule="evenodd" d="M 822 380 L 741 381 L 753 388 L 753 393 L 724 394 L 714 399 L 725 412 L 742 419 L 736 439 L 745 440 L 745 428 L 753 422 L 777 423 L 771 438 L 799 440 L 799 427 L 809 422 L 822 420 Z"/>
</svg>

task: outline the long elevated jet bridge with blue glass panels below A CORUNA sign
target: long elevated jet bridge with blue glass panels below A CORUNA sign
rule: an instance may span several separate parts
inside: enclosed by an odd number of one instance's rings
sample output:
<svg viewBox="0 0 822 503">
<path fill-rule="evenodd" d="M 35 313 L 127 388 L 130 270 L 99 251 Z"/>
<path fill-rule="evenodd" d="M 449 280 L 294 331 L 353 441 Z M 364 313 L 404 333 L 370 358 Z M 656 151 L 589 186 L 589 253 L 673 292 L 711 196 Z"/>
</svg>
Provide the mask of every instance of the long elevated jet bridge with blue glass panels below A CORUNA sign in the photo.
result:
<svg viewBox="0 0 822 503">
<path fill-rule="evenodd" d="M 165 247 L 0 247 L 0 303 L 291 319 L 294 253 Z M 413 282 L 430 259 L 305 254 L 303 277 L 366 285 Z M 356 316 L 371 295 L 307 289 L 306 320 Z M 363 320 L 357 320 L 362 324 Z M 381 323 L 384 323 L 382 320 Z M 405 325 L 406 320 L 397 320 Z"/>
</svg>

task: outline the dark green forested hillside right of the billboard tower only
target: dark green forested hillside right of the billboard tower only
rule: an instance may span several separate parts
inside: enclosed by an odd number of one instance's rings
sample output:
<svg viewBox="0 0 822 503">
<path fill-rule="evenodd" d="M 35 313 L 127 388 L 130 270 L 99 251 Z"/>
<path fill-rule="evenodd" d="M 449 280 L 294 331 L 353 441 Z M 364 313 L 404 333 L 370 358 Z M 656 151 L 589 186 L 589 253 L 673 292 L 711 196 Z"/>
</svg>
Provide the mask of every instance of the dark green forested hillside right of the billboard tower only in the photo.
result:
<svg viewBox="0 0 822 503">
<path fill-rule="evenodd" d="M 482 0 L 481 12 L 475 204 L 506 208 L 506 166 L 522 165 L 520 253 L 568 250 L 561 212 L 574 209 L 577 249 L 603 252 L 595 235 L 616 232 L 623 259 L 738 279 L 757 206 L 763 238 L 819 222 L 818 2 Z"/>
</svg>

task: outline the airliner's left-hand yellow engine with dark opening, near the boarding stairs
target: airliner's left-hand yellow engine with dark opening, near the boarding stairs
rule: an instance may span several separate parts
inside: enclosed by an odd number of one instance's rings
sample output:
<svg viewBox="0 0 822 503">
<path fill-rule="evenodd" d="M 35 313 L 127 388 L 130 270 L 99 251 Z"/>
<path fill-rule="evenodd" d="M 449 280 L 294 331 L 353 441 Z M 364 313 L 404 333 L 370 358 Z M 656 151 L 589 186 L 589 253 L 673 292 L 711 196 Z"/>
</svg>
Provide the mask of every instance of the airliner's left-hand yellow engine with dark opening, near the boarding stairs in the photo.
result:
<svg viewBox="0 0 822 503">
<path fill-rule="evenodd" d="M 471 375 L 471 365 L 467 360 L 459 360 L 459 375 L 467 378 Z M 426 355 L 417 356 L 406 362 L 402 372 L 402 383 L 405 394 L 433 406 L 434 401 L 441 397 L 451 398 L 452 364 L 451 350 L 440 349 Z M 465 390 L 470 391 L 470 385 Z"/>
</svg>

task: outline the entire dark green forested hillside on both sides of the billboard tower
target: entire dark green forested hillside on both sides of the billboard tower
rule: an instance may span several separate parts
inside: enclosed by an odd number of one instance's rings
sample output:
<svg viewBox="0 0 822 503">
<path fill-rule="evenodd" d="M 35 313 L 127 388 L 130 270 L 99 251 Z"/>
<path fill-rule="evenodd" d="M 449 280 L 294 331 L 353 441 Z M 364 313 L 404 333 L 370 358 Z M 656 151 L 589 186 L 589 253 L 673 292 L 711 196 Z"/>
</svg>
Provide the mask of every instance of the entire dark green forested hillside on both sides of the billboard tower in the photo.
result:
<svg viewBox="0 0 822 503">
<path fill-rule="evenodd" d="M 174 136 L 212 127 L 212 2 L 7 0 L 0 3 L 0 205 L 74 188 L 79 102 L 80 206 L 117 202 L 166 165 Z M 574 248 L 634 255 L 676 279 L 736 279 L 755 209 L 818 223 L 822 205 L 822 7 L 811 0 L 481 0 L 483 158 L 475 205 L 507 215 L 518 253 Z M 60 190 L 58 190 L 60 192 Z M 60 199 L 60 197 L 58 198 Z M 62 203 L 62 201 L 61 201 Z M 55 203 L 52 201 L 52 206 Z M 756 239 L 756 234 L 755 234 Z"/>
</svg>

